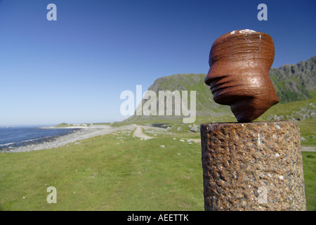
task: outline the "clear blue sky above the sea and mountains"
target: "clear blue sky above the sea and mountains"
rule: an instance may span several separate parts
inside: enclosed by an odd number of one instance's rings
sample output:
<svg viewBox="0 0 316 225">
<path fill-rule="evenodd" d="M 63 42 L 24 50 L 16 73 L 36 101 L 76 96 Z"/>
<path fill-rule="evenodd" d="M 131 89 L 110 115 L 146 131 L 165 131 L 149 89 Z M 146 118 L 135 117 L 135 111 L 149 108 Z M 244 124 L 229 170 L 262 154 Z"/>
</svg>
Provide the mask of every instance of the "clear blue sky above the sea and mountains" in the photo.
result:
<svg viewBox="0 0 316 225">
<path fill-rule="evenodd" d="M 57 6 L 48 21 L 46 6 Z M 258 4 L 268 6 L 259 21 Z M 273 67 L 315 56 L 315 0 L 0 0 L 0 126 L 121 120 L 122 91 L 207 73 L 213 41 L 251 29 Z"/>
</svg>

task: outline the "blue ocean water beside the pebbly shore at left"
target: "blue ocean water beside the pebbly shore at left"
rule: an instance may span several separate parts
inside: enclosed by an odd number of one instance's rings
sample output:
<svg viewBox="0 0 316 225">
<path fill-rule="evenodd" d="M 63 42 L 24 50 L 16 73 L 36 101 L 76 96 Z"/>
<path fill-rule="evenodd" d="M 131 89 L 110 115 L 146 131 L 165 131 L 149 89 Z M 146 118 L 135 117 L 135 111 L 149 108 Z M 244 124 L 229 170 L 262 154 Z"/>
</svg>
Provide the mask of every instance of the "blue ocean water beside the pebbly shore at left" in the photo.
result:
<svg viewBox="0 0 316 225">
<path fill-rule="evenodd" d="M 70 134 L 77 129 L 39 129 L 37 127 L 0 127 L 0 150 L 27 146 Z"/>
</svg>

